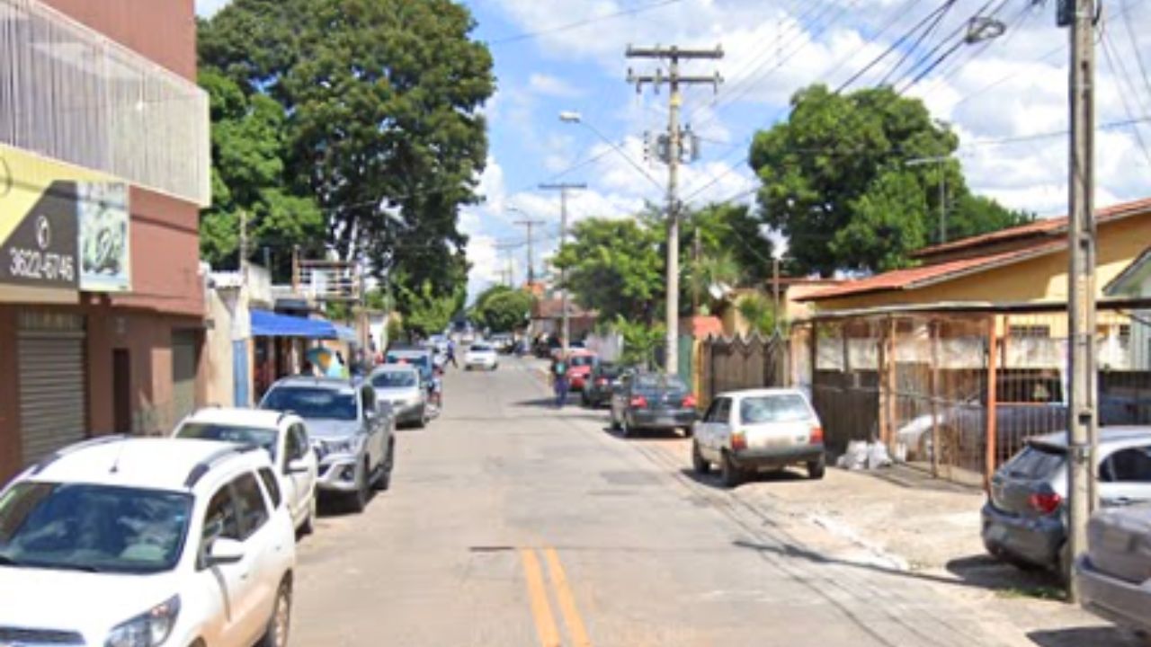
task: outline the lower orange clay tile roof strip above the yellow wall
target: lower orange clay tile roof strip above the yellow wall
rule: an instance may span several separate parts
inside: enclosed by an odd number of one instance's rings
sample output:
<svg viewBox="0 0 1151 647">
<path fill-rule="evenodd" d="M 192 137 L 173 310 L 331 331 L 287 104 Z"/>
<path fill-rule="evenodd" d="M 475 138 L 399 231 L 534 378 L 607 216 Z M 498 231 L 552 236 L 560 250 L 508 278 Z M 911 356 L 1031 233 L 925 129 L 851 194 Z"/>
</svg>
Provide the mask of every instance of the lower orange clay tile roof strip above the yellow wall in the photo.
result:
<svg viewBox="0 0 1151 647">
<path fill-rule="evenodd" d="M 971 272 L 990 269 L 999 265 L 1016 262 L 1036 256 L 1053 252 L 1066 246 L 1066 241 L 1052 241 L 1042 245 L 1035 245 L 1022 250 L 1011 250 L 975 258 L 965 258 L 940 262 L 938 265 L 925 265 L 923 267 L 909 267 L 907 269 L 895 269 L 884 272 L 857 281 L 847 281 L 838 286 L 820 290 L 810 295 L 799 297 L 796 300 L 822 300 L 845 296 L 855 296 L 867 292 L 882 292 L 889 290 L 906 290 L 924 284 L 945 281 Z"/>
</svg>

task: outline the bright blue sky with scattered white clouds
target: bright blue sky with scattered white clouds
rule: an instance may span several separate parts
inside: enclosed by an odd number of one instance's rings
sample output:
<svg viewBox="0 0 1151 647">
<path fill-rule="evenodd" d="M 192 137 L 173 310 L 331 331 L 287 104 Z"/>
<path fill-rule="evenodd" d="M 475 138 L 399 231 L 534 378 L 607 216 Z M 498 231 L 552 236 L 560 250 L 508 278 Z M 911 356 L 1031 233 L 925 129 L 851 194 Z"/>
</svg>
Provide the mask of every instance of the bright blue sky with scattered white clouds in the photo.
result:
<svg viewBox="0 0 1151 647">
<path fill-rule="evenodd" d="M 718 89 L 684 93 L 683 123 L 700 136 L 701 157 L 680 170 L 680 199 L 749 201 L 746 162 L 760 129 L 786 119 L 788 98 L 811 83 L 837 87 L 894 45 L 894 54 L 849 89 L 886 77 L 960 136 L 970 188 L 1041 216 L 1066 213 L 1068 32 L 1055 25 L 1055 2 L 951 0 L 918 47 L 904 38 L 947 0 L 463 0 L 495 58 L 497 91 L 485 107 L 489 158 L 481 204 L 462 214 L 473 268 L 468 292 L 526 276 L 526 233 L 535 230 L 535 267 L 558 242 L 559 195 L 540 183 L 586 183 L 569 196 L 572 222 L 627 218 L 662 203 L 666 168 L 643 159 L 645 132 L 666 128 L 668 93 L 637 92 L 628 68 L 653 74 L 661 63 L 627 60 L 630 44 L 715 48 L 718 61 L 683 63 L 694 76 L 718 71 Z M 197 0 L 209 15 L 227 0 Z M 1151 1 L 1107 0 L 1097 47 L 1097 193 L 1099 206 L 1151 195 Z M 961 45 L 921 75 L 936 44 L 962 33 L 974 16 L 993 16 L 1006 31 Z M 947 40 L 950 44 L 951 40 Z M 939 52 L 945 52 L 943 47 Z M 907 62 L 891 71 L 907 53 Z M 930 54 L 930 55 L 929 55 Z M 908 71 L 918 61 L 924 64 Z M 665 70 L 666 68 L 663 67 Z M 891 76 L 887 76 L 891 74 Z M 914 83 L 913 83 L 914 82 Z M 905 89 L 906 86 L 906 89 Z M 559 113 L 579 113 L 565 123 Z"/>
</svg>

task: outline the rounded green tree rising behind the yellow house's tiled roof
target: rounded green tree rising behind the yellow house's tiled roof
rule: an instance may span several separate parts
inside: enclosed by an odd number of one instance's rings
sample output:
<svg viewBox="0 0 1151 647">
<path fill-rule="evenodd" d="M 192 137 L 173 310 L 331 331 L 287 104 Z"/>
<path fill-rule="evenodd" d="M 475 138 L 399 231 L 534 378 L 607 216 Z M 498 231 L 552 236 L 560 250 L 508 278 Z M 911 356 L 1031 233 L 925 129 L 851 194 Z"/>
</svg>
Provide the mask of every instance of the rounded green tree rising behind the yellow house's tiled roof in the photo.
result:
<svg viewBox="0 0 1151 647">
<path fill-rule="evenodd" d="M 974 198 L 956 160 L 959 137 L 918 99 L 891 87 L 838 94 L 800 90 L 786 121 L 756 134 L 750 166 L 764 220 L 788 238 L 791 268 L 830 275 L 909 265 L 938 242 L 939 185 L 948 238 L 1009 227 L 1027 215 Z M 960 208 L 956 208 L 960 207 Z"/>
</svg>

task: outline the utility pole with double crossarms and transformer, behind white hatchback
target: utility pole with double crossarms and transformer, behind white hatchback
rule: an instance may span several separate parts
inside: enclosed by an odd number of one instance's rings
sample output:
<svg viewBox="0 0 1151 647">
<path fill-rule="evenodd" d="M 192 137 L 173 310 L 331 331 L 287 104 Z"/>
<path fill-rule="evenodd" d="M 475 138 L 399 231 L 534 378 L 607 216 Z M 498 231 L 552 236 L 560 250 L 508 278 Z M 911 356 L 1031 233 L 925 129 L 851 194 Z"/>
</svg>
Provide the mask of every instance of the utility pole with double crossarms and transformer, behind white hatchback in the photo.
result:
<svg viewBox="0 0 1151 647">
<path fill-rule="evenodd" d="M 719 73 L 712 76 L 681 76 L 680 60 L 722 59 L 723 48 L 715 50 L 680 50 L 671 47 L 632 47 L 627 46 L 628 59 L 668 60 L 668 75 L 656 70 L 654 75 L 637 75 L 627 70 L 627 82 L 635 84 L 635 90 L 642 91 L 645 84 L 651 84 L 656 92 L 666 84 L 670 89 L 668 109 L 668 345 L 664 355 L 664 370 L 669 375 L 679 372 L 679 218 L 680 205 L 676 191 L 679 181 L 679 162 L 684 132 L 679 128 L 679 108 L 684 102 L 681 85 L 711 85 L 718 89 L 722 78 Z"/>
</svg>

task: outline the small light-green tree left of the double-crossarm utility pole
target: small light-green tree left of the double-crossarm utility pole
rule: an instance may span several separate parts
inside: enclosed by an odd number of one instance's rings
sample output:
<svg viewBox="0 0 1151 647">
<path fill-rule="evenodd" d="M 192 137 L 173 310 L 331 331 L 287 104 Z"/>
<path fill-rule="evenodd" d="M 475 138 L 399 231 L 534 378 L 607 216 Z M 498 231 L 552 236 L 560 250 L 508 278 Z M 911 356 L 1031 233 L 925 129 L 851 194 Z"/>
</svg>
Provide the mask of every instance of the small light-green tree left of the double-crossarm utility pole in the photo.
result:
<svg viewBox="0 0 1151 647">
<path fill-rule="evenodd" d="M 567 287 L 601 321 L 617 317 L 651 321 L 663 299 L 663 229 L 645 214 L 577 222 L 552 264 L 567 271 Z"/>
</svg>

